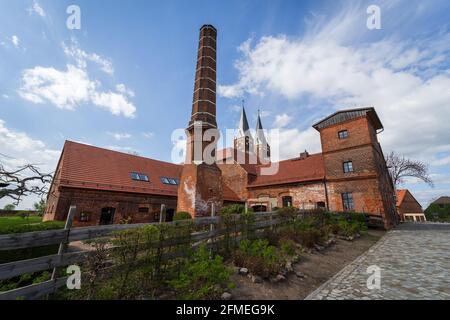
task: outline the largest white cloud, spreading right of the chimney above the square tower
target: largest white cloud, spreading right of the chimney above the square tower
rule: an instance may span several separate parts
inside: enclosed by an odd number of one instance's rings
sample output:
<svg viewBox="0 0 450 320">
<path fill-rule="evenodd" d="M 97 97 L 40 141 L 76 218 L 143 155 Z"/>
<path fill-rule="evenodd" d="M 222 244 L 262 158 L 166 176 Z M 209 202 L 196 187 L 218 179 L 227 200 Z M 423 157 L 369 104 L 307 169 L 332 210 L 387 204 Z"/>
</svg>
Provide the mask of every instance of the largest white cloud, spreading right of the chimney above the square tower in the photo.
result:
<svg viewBox="0 0 450 320">
<path fill-rule="evenodd" d="M 450 41 L 443 39 L 450 40 L 450 34 L 351 42 L 361 29 L 352 12 L 314 25 L 303 37 L 246 42 L 235 63 L 239 80 L 219 92 L 225 97 L 247 92 L 280 103 L 307 98 L 317 111 L 304 110 L 315 118 L 336 109 L 374 106 L 385 127 L 379 136 L 385 151 L 416 156 L 447 148 L 450 75 L 443 62 L 448 63 Z M 325 110 L 323 105 L 335 107 Z"/>
</svg>

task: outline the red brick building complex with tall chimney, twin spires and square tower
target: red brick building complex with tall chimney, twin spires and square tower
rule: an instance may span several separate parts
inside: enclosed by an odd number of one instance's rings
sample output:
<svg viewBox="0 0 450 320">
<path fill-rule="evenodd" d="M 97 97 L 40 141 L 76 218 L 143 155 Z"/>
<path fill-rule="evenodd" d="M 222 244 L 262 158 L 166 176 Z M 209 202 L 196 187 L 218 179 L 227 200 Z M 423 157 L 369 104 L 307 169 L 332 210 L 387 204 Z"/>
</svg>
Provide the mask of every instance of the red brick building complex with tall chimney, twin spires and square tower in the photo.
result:
<svg viewBox="0 0 450 320">
<path fill-rule="evenodd" d="M 339 111 L 314 124 L 322 153 L 305 151 L 278 163 L 270 162 L 261 118 L 253 138 L 243 109 L 234 147 L 216 152 L 216 36 L 210 25 L 200 30 L 185 164 L 66 142 L 45 219 L 65 219 L 70 205 L 77 206 L 75 225 L 92 225 L 155 221 L 161 204 L 170 220 L 175 211 L 195 217 L 209 215 L 213 204 L 247 203 L 259 211 L 359 211 L 380 216 L 386 228 L 395 225 L 394 188 L 377 139 L 383 126 L 374 108 Z M 207 142 L 206 132 L 213 133 Z M 265 174 L 274 164 L 278 170 Z"/>
</svg>

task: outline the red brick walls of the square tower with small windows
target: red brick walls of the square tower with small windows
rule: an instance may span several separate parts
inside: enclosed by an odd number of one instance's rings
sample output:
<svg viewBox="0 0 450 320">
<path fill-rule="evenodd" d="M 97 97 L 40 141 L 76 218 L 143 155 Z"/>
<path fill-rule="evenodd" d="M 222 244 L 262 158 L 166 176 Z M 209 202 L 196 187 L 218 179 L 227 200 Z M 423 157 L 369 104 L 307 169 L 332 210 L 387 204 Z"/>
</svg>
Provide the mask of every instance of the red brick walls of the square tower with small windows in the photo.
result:
<svg viewBox="0 0 450 320">
<path fill-rule="evenodd" d="M 347 130 L 348 137 L 338 133 Z M 394 189 L 377 133 L 367 117 L 360 117 L 320 130 L 330 209 L 344 210 L 342 193 L 351 193 L 354 210 L 380 215 L 385 227 L 396 224 Z M 353 172 L 344 173 L 351 161 Z"/>
</svg>

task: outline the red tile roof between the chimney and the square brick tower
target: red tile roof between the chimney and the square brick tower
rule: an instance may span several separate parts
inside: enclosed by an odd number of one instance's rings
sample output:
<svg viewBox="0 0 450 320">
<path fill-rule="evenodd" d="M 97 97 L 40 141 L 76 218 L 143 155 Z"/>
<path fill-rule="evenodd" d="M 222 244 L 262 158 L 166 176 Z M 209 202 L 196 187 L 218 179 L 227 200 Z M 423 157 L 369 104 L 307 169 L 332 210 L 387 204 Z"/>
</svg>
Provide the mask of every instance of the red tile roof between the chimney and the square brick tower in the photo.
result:
<svg viewBox="0 0 450 320">
<path fill-rule="evenodd" d="M 305 159 L 294 158 L 278 162 L 278 172 L 274 175 L 262 175 L 257 167 L 258 176 L 249 187 L 260 187 L 296 182 L 317 181 L 325 179 L 325 169 L 321 153 L 309 155 Z"/>
</svg>

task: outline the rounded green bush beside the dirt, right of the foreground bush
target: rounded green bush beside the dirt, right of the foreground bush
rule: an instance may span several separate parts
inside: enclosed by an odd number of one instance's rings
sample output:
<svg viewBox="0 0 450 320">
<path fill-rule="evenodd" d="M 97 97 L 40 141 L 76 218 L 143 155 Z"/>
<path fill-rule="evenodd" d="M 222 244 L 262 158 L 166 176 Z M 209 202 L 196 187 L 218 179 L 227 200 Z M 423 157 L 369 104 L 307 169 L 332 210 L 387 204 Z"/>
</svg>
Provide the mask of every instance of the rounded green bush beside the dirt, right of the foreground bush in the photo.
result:
<svg viewBox="0 0 450 320">
<path fill-rule="evenodd" d="M 253 274 L 268 278 L 276 275 L 283 266 L 283 259 L 276 247 L 267 240 L 243 240 L 234 255 L 237 266 L 248 268 Z"/>
</svg>

